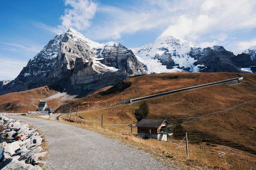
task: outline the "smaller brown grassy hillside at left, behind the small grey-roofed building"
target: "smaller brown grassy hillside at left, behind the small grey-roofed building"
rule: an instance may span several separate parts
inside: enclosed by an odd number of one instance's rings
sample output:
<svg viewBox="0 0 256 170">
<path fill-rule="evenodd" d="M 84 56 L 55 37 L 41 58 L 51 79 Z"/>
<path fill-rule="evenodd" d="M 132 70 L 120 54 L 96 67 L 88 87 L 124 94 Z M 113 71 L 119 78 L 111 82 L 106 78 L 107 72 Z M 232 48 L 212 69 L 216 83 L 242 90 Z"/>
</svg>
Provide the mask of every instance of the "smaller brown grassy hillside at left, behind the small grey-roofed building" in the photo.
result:
<svg viewBox="0 0 256 170">
<path fill-rule="evenodd" d="M 4 94 L 0 96 L 0 111 L 27 113 L 28 110 L 36 110 L 40 100 L 48 98 L 57 92 L 49 86 L 43 86 L 31 90 Z M 59 107 L 58 102 L 59 99 L 49 100 L 48 106 L 55 109 Z"/>
</svg>

